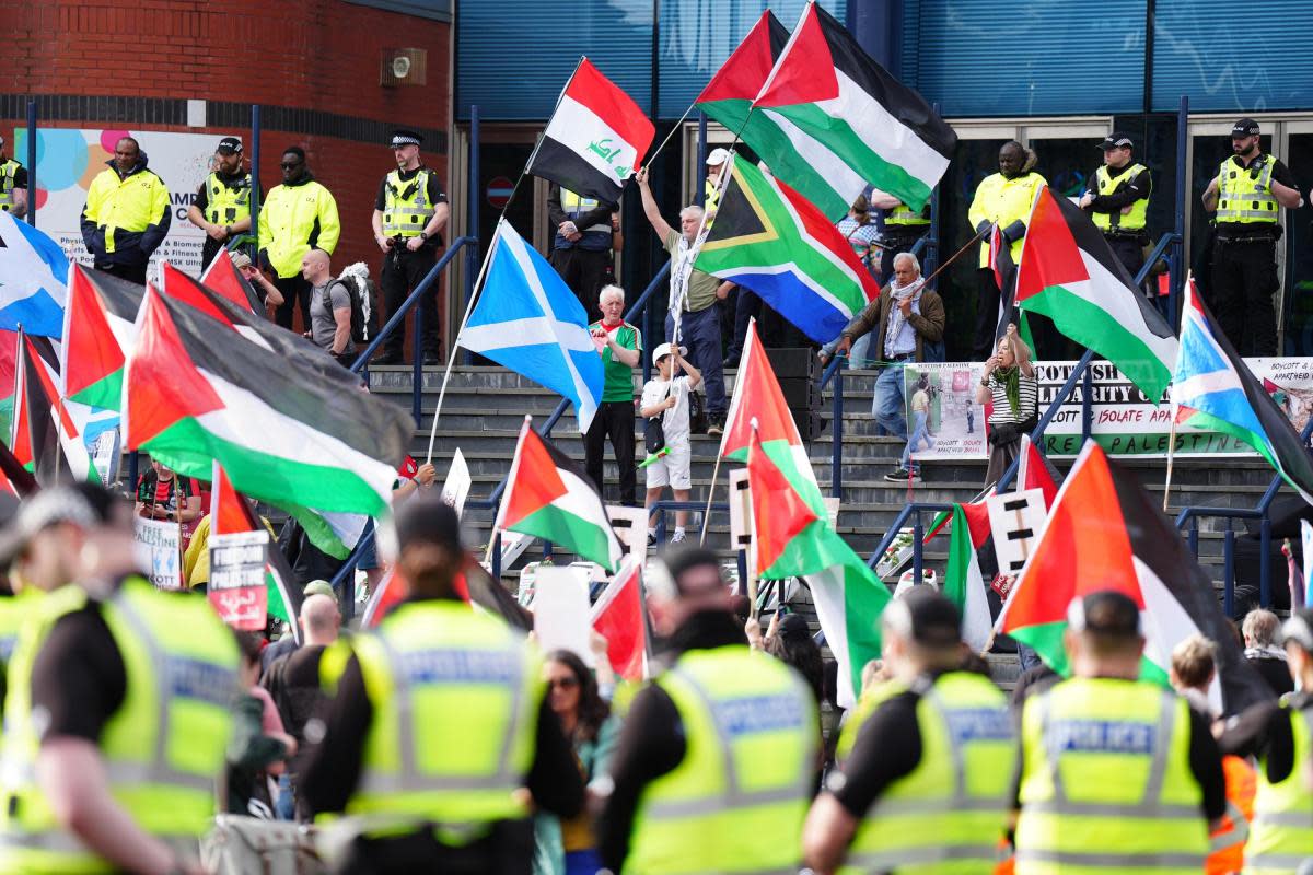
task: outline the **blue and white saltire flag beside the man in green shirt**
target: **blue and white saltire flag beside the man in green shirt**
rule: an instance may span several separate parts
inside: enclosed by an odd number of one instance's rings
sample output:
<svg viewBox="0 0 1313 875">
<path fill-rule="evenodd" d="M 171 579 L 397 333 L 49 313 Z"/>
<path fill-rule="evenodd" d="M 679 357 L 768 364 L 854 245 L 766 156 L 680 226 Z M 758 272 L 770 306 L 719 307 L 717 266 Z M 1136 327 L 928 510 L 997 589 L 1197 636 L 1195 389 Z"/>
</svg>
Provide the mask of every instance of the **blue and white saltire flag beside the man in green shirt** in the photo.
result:
<svg viewBox="0 0 1313 875">
<path fill-rule="evenodd" d="M 483 290 L 457 342 L 574 401 L 579 430 L 588 430 L 603 383 L 588 315 L 506 219 L 498 222 Z"/>
</svg>

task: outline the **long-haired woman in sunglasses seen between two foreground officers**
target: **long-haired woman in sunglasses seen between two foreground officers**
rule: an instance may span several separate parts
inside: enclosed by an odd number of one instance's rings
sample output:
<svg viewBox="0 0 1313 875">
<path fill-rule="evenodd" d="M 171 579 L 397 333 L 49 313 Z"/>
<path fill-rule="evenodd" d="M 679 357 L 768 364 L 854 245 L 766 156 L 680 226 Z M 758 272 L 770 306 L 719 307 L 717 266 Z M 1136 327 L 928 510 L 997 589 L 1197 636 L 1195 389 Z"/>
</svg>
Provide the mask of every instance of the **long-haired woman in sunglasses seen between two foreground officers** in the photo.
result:
<svg viewBox="0 0 1313 875">
<path fill-rule="evenodd" d="M 584 784 L 607 777 L 607 763 L 620 737 L 620 718 L 607 702 L 613 685 L 607 644 L 597 635 L 592 644 L 596 674 L 571 651 L 553 651 L 542 669 L 548 704 L 574 746 Z M 540 813 L 534 819 L 534 875 L 593 875 L 601 868 L 592 824 L 587 809 L 570 820 Z"/>
</svg>

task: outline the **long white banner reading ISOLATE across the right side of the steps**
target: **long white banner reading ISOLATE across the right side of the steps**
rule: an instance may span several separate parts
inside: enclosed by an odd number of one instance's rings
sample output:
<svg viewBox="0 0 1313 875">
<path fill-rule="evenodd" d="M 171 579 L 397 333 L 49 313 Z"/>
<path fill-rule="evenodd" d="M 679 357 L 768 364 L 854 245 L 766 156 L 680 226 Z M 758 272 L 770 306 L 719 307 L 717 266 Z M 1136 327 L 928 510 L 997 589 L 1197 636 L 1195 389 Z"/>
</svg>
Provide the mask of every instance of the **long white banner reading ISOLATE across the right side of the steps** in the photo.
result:
<svg viewBox="0 0 1313 875">
<path fill-rule="evenodd" d="M 1285 411 L 1296 430 L 1313 413 L 1313 358 L 1246 358 L 1245 363 L 1263 382 Z M 1077 362 L 1036 362 L 1040 415 L 1057 397 Z M 983 459 L 987 409 L 976 404 L 976 390 L 985 373 L 982 362 L 915 363 L 903 367 L 903 405 L 907 433 L 915 438 L 913 458 Z M 1090 363 L 1091 434 L 1111 455 L 1166 458 L 1171 439 L 1171 403 L 1163 395 L 1154 407 L 1109 362 Z M 1044 432 L 1049 457 L 1074 458 L 1081 451 L 1081 416 L 1085 380 L 1054 415 Z M 918 417 L 926 428 L 918 430 Z M 1188 426 L 1176 428 L 1176 454 L 1188 457 L 1257 455 L 1236 438 Z"/>
</svg>

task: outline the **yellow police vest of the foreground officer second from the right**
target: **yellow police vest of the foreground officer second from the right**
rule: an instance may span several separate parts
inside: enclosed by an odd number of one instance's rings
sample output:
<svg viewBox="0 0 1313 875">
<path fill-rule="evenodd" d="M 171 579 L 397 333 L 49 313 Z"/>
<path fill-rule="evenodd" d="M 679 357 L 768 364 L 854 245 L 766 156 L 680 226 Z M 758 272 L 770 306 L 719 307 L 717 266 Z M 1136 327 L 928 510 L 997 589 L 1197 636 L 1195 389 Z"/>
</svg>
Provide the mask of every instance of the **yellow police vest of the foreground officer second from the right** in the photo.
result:
<svg viewBox="0 0 1313 875">
<path fill-rule="evenodd" d="M 1073 678 L 1022 716 L 1016 875 L 1203 871 L 1190 706 L 1142 681 Z"/>
</svg>

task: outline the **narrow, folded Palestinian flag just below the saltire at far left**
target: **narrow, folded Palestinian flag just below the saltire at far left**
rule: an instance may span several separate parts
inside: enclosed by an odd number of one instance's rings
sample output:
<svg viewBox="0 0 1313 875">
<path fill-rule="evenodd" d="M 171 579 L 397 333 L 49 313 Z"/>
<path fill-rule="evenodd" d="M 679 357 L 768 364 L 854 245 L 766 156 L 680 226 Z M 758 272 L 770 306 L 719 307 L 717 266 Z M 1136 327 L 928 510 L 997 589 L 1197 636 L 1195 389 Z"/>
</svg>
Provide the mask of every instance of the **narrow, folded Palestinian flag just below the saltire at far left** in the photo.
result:
<svg viewBox="0 0 1313 875">
<path fill-rule="evenodd" d="M 49 341 L 43 344 L 49 349 Z M 35 340 L 21 331 L 9 446 L 18 464 L 32 471 L 43 487 L 100 480 L 77 425 L 59 395 L 56 369 L 42 357 Z"/>
</svg>

